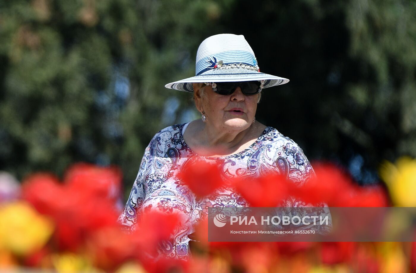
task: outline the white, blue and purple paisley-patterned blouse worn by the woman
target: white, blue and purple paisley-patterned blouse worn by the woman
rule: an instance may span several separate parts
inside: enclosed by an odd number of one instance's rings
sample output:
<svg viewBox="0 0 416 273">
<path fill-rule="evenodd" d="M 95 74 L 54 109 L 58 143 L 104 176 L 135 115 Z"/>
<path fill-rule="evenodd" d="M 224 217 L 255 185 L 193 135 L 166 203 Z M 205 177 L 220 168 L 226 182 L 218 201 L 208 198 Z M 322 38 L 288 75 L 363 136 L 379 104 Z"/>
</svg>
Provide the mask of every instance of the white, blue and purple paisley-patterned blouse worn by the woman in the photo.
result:
<svg viewBox="0 0 416 273">
<path fill-rule="evenodd" d="M 224 187 L 211 196 L 197 199 L 177 178 L 178 169 L 193 155 L 185 143 L 183 133 L 186 124 L 176 124 L 159 131 L 145 149 L 139 173 L 119 222 L 129 229 L 136 223 L 141 211 L 157 208 L 161 211 L 179 210 L 188 216 L 190 225 L 178 230 L 174 238 L 166 241 L 159 250 L 160 256 L 187 259 L 189 251 L 188 234 L 193 232 L 193 223 L 208 213 L 208 207 L 249 206 L 232 188 Z M 314 171 L 302 149 L 290 138 L 283 136 L 272 127 L 267 127 L 260 137 L 247 149 L 237 154 L 208 157 L 216 161 L 225 180 L 235 176 L 256 177 L 274 170 L 294 182 L 304 183 Z M 297 201 L 287 201 L 283 206 L 299 206 Z"/>
</svg>

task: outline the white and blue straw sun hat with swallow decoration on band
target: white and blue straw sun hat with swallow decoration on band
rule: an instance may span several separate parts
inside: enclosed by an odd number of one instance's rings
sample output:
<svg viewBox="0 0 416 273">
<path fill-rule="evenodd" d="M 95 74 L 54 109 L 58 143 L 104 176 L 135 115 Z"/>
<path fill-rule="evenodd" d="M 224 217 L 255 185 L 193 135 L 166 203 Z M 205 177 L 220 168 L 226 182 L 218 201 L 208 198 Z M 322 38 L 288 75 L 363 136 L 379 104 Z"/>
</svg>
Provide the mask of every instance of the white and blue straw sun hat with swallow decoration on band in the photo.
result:
<svg viewBox="0 0 416 273">
<path fill-rule="evenodd" d="M 289 82 L 289 79 L 260 72 L 256 57 L 243 35 L 217 34 L 203 40 L 196 53 L 195 77 L 165 85 L 193 92 L 193 82 L 245 82 L 265 80 L 263 88 Z"/>
</svg>

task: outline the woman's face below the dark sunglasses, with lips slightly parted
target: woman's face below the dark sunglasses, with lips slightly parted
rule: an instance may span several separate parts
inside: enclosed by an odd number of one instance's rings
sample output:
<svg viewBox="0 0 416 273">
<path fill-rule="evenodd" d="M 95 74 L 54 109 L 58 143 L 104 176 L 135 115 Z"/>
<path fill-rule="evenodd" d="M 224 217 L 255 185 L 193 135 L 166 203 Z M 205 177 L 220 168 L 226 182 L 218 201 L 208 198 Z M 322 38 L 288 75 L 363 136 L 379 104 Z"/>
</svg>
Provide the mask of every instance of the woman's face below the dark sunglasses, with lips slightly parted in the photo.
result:
<svg viewBox="0 0 416 273">
<path fill-rule="evenodd" d="M 207 115 L 207 124 L 230 131 L 243 131 L 252 124 L 260 94 L 246 96 L 241 92 L 241 88 L 237 87 L 233 94 L 220 95 L 205 84 L 201 86 L 201 94 L 198 84 L 193 84 L 193 88 L 196 107 Z"/>
</svg>

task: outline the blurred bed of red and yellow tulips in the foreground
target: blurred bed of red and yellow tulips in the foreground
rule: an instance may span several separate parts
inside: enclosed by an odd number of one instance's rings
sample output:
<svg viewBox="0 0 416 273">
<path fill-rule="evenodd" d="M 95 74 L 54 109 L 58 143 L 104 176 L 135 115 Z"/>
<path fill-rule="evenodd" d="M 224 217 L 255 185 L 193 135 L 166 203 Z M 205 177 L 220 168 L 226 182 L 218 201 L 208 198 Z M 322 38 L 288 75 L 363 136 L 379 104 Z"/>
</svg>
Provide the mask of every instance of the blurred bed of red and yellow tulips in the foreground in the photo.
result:
<svg viewBox="0 0 416 273">
<path fill-rule="evenodd" d="M 196 196 L 223 186 L 215 166 L 198 160 L 192 164 L 180 176 Z M 313 166 L 317 177 L 302 186 L 277 174 L 255 181 L 235 179 L 232 186 L 257 207 L 277 206 L 290 196 L 329 207 L 416 206 L 413 159 L 381 167 L 387 190 L 357 186 L 331 164 Z M 195 182 L 201 180 L 204 183 Z M 158 245 L 171 237 L 183 218 L 175 212 L 145 210 L 134 231 L 126 232 L 117 222 L 120 189 L 118 168 L 74 164 L 62 181 L 49 173 L 32 174 L 22 181 L 19 197 L 0 195 L 0 271 L 416 272 L 416 243 L 209 243 L 206 219 L 195 228 L 189 260 L 155 261 L 151 257 Z"/>
</svg>

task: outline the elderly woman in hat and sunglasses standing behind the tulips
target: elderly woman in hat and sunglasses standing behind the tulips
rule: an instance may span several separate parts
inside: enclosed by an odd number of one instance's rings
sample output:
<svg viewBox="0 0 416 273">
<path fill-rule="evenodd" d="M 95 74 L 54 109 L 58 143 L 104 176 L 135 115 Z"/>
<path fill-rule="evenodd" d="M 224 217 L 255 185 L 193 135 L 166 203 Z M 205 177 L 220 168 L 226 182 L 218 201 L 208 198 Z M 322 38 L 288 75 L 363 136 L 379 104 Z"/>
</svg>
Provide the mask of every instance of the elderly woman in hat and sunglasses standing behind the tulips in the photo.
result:
<svg viewBox="0 0 416 273">
<path fill-rule="evenodd" d="M 177 177 L 177 170 L 191 156 L 215 161 L 225 179 L 276 171 L 302 183 L 314 175 L 292 139 L 255 120 L 262 90 L 287 82 L 260 72 L 243 35 L 219 34 L 204 40 L 196 56 L 196 76 L 166 84 L 167 88 L 193 92 L 201 119 L 166 127 L 153 137 L 120 223 L 132 226 L 149 207 L 185 213 L 190 225 L 160 251 L 164 256 L 188 258 L 192 223 L 202 218 L 207 207 L 249 206 L 232 188 L 196 198 Z"/>
</svg>

